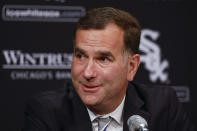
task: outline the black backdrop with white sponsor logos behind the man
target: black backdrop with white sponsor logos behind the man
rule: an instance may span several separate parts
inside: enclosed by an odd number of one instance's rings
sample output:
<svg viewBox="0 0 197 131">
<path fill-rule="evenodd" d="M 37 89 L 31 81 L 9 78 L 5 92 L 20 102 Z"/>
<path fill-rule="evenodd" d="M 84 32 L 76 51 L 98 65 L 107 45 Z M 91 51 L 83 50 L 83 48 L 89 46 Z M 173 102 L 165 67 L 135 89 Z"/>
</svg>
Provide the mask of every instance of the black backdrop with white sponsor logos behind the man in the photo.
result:
<svg viewBox="0 0 197 131">
<path fill-rule="evenodd" d="M 192 1 L 4 0 L 0 3 L 0 130 L 20 130 L 24 102 L 70 79 L 74 25 L 87 10 L 103 6 L 131 12 L 142 25 L 141 65 L 135 81 L 172 86 L 197 124 Z"/>
</svg>

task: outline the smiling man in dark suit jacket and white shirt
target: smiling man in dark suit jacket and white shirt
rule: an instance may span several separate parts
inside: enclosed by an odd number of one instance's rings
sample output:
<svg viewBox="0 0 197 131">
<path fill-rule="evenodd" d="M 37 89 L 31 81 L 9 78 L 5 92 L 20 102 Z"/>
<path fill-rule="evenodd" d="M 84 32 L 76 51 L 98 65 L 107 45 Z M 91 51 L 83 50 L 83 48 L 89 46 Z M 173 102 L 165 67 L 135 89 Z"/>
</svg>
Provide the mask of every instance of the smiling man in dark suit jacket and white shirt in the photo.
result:
<svg viewBox="0 0 197 131">
<path fill-rule="evenodd" d="M 194 130 L 171 89 L 131 82 L 139 42 L 139 22 L 129 13 L 88 11 L 76 26 L 70 86 L 30 100 L 24 130 L 128 131 L 132 115 L 143 117 L 150 131 Z"/>
</svg>

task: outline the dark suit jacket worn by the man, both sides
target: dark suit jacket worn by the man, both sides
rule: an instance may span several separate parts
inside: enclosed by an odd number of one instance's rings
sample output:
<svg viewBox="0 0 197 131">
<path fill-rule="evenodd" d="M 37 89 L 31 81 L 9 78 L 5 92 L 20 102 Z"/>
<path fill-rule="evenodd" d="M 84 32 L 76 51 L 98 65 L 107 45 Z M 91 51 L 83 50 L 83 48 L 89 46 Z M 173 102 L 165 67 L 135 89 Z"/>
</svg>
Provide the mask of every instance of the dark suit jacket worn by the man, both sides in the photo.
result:
<svg viewBox="0 0 197 131">
<path fill-rule="evenodd" d="M 130 83 L 123 113 L 124 131 L 129 131 L 127 119 L 136 114 L 147 120 L 149 131 L 194 131 L 170 88 Z M 87 109 L 72 86 L 41 93 L 27 102 L 24 131 L 91 130 Z"/>
</svg>

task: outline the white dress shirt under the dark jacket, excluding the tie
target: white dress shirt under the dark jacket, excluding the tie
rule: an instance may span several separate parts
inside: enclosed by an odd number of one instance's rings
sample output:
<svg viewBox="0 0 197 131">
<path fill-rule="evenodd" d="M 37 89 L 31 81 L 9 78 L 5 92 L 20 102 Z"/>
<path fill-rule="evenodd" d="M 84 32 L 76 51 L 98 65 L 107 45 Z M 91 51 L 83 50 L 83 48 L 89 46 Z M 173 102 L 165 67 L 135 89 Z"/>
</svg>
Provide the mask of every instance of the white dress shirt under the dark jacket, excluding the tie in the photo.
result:
<svg viewBox="0 0 197 131">
<path fill-rule="evenodd" d="M 123 131 L 123 118 L 122 112 L 124 107 L 125 96 L 121 102 L 121 104 L 111 113 L 105 115 L 98 115 L 93 113 L 91 110 L 88 110 L 88 114 L 90 116 L 90 120 L 92 122 L 92 131 L 98 131 L 98 122 L 95 120 L 98 117 L 106 118 L 111 117 L 109 125 L 107 126 L 106 131 Z"/>
</svg>

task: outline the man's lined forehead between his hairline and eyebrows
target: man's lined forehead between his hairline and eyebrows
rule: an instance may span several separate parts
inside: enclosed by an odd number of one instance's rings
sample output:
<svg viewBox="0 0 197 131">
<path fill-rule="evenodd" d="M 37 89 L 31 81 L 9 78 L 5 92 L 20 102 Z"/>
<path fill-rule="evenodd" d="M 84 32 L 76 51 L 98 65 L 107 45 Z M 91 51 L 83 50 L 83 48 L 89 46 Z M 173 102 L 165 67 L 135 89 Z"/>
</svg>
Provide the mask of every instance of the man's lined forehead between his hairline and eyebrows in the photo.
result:
<svg viewBox="0 0 197 131">
<path fill-rule="evenodd" d="M 108 24 L 104 29 L 79 29 L 76 32 L 75 46 L 78 48 L 122 50 L 123 30 L 115 24 Z"/>
</svg>

